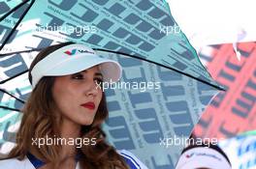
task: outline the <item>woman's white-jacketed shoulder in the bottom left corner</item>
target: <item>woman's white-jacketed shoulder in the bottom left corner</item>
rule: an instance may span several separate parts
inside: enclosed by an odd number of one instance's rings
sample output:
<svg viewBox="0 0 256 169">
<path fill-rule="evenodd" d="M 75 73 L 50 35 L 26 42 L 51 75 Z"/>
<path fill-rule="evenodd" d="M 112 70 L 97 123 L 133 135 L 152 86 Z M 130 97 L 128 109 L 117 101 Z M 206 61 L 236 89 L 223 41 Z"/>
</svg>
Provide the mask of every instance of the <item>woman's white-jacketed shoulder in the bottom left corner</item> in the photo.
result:
<svg viewBox="0 0 256 169">
<path fill-rule="evenodd" d="M 22 160 L 17 158 L 0 159 L 0 169 L 35 169 L 25 157 Z"/>
</svg>

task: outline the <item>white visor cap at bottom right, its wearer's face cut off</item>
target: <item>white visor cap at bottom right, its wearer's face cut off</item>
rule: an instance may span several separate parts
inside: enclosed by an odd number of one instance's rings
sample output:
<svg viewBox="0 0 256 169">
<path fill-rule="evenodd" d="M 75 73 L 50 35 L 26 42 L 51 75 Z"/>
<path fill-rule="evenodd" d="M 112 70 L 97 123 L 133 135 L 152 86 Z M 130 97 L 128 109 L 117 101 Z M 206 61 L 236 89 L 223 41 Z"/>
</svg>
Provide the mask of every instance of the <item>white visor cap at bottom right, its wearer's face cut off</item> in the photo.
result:
<svg viewBox="0 0 256 169">
<path fill-rule="evenodd" d="M 217 151 L 198 147 L 183 153 L 176 164 L 176 169 L 232 169 L 228 160 Z"/>
</svg>

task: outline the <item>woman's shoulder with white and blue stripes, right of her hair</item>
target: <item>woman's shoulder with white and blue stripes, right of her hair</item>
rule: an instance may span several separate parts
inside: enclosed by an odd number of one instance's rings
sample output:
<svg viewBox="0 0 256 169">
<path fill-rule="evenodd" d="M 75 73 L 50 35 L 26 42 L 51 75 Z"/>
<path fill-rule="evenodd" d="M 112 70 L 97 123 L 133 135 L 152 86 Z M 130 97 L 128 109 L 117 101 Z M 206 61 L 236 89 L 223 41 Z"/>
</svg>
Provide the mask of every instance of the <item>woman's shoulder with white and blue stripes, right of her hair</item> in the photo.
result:
<svg viewBox="0 0 256 169">
<path fill-rule="evenodd" d="M 126 150 L 118 150 L 119 155 L 122 155 L 126 163 L 131 167 L 131 169 L 147 169 L 144 163 L 131 152 Z"/>
</svg>

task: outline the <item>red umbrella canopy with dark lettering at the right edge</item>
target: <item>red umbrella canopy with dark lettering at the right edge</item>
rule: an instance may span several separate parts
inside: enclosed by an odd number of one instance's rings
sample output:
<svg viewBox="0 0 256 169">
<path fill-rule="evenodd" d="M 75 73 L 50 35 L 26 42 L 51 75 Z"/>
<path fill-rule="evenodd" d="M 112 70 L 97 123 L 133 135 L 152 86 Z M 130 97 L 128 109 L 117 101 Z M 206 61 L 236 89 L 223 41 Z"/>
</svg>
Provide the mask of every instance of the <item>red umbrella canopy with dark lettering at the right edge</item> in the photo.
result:
<svg viewBox="0 0 256 169">
<path fill-rule="evenodd" d="M 256 127 L 256 42 L 239 42 L 240 61 L 232 43 L 209 45 L 199 56 L 212 77 L 226 86 L 210 103 L 195 135 L 229 138 Z"/>
</svg>

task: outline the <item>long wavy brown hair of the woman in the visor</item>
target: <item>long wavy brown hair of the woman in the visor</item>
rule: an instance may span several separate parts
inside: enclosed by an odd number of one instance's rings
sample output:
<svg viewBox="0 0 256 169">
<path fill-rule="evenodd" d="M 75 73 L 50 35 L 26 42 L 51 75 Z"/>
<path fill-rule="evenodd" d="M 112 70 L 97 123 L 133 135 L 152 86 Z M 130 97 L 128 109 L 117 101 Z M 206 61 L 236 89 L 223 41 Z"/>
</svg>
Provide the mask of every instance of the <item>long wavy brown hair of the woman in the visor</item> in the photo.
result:
<svg viewBox="0 0 256 169">
<path fill-rule="evenodd" d="M 48 56 L 49 53 L 72 42 L 51 45 L 42 50 L 32 62 L 29 69 L 29 81 L 32 82 L 31 70 L 34 66 Z M 16 147 L 10 152 L 8 158 L 16 157 L 23 159 L 28 152 L 33 150 L 37 155 L 42 156 L 46 163 L 53 163 L 57 166 L 61 146 L 43 145 L 40 149 L 32 146 L 32 138 L 59 137 L 58 127 L 61 123 L 61 115 L 53 113 L 56 105 L 51 95 L 51 88 L 54 77 L 45 76 L 35 86 L 22 109 L 22 120 L 16 133 Z M 96 145 L 82 145 L 78 150 L 81 154 L 80 167 L 82 169 L 128 169 L 124 159 L 118 155 L 115 149 L 106 141 L 106 134 L 102 130 L 102 123 L 108 117 L 107 101 L 103 93 L 102 100 L 98 107 L 94 121 L 90 126 L 81 127 L 82 138 L 97 138 Z M 54 167 L 54 168 L 55 168 Z"/>
</svg>

